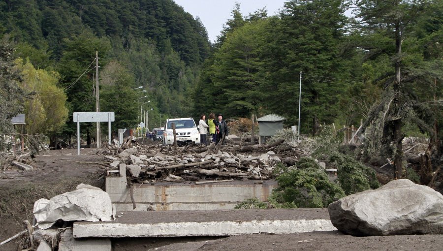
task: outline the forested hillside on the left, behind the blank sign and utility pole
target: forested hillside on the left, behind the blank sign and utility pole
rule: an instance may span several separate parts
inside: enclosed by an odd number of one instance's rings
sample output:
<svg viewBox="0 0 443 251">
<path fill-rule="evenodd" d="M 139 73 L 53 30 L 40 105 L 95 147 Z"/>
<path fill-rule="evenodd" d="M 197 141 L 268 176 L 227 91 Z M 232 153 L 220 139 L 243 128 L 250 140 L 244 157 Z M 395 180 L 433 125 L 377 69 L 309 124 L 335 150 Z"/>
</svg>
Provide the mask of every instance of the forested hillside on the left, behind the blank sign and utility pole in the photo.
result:
<svg viewBox="0 0 443 251">
<path fill-rule="evenodd" d="M 22 59 L 18 64 L 31 63 L 34 71 L 55 76 L 54 85 L 62 90 L 31 84 L 29 70 L 21 73 L 22 88 L 34 92 L 32 100 L 66 101 L 63 126 L 49 131 L 27 126 L 34 133 L 71 135 L 76 130 L 72 112 L 95 111 L 95 51 L 100 110 L 116 112 L 113 131 L 135 127 L 147 101 L 144 110 L 154 108 L 148 114 L 151 128 L 169 116 L 189 116 L 200 65 L 211 54 L 201 21 L 171 0 L 7 0 L 0 1 L 0 15 L 1 36 L 14 42 L 15 58 Z M 25 105 L 27 121 L 44 110 L 30 110 L 32 103 Z M 49 118 L 41 114 L 40 119 Z M 82 127 L 88 134 L 95 130 Z"/>
</svg>

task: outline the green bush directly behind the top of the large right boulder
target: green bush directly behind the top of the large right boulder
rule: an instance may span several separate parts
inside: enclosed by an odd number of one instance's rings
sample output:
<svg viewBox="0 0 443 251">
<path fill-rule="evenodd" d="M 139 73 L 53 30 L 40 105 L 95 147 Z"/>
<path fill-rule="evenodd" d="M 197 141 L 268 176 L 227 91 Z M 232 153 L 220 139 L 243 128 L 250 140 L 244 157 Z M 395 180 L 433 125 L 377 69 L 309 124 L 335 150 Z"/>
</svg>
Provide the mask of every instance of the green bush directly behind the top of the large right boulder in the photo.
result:
<svg viewBox="0 0 443 251">
<path fill-rule="evenodd" d="M 329 161 L 337 163 L 338 181 L 347 195 L 380 187 L 375 171 L 354 157 L 334 154 Z"/>
</svg>

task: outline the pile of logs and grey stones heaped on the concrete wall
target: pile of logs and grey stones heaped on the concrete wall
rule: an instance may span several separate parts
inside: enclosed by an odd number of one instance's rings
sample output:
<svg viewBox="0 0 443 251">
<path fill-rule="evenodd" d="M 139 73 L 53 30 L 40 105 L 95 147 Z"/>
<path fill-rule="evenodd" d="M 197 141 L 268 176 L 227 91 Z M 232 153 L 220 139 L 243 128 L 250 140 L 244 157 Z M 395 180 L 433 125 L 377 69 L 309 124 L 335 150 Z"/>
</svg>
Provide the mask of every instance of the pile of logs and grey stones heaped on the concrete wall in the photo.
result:
<svg viewBox="0 0 443 251">
<path fill-rule="evenodd" d="M 148 184 L 157 181 L 183 182 L 204 179 L 274 178 L 277 163 L 294 165 L 304 155 L 299 148 L 279 140 L 268 145 L 234 144 L 186 145 L 183 147 L 161 144 L 140 145 L 129 138 L 121 148 L 107 146 L 112 156 L 106 156 L 108 169 L 117 170 L 127 165 L 127 177 L 132 182 Z"/>
</svg>

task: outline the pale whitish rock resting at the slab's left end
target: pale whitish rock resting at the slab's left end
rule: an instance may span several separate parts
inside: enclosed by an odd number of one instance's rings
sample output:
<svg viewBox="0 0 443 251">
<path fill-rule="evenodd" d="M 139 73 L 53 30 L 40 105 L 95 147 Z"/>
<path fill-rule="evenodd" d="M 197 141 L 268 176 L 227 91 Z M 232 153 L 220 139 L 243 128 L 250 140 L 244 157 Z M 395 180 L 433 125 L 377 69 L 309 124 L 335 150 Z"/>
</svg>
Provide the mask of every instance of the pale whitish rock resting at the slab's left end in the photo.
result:
<svg viewBox="0 0 443 251">
<path fill-rule="evenodd" d="M 112 204 L 109 194 L 101 189 L 81 188 L 34 203 L 33 214 L 38 228 L 51 227 L 57 220 L 111 220 Z"/>
</svg>

